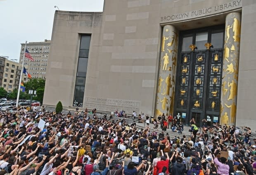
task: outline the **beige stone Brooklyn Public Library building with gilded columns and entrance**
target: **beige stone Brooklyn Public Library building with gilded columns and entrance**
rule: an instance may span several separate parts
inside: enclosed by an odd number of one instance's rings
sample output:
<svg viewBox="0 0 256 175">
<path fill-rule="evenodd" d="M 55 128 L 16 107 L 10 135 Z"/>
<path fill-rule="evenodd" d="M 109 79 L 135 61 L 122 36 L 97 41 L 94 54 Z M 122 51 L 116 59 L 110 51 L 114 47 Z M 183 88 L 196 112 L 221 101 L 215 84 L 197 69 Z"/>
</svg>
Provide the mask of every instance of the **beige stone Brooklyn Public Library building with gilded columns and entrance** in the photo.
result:
<svg viewBox="0 0 256 175">
<path fill-rule="evenodd" d="M 255 127 L 255 0 L 56 11 L 43 104 Z"/>
</svg>

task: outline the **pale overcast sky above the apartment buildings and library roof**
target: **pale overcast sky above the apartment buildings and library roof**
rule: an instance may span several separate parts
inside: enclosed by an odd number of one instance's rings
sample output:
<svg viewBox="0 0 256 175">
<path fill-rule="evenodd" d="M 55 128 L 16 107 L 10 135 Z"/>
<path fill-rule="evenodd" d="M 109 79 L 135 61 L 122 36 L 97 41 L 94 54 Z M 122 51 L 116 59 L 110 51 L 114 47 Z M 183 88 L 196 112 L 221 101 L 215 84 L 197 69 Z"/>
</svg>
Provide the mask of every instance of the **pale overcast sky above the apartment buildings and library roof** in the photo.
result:
<svg viewBox="0 0 256 175">
<path fill-rule="evenodd" d="M 0 56 L 18 59 L 21 43 L 52 37 L 55 9 L 102 12 L 104 0 L 0 0 Z"/>
</svg>

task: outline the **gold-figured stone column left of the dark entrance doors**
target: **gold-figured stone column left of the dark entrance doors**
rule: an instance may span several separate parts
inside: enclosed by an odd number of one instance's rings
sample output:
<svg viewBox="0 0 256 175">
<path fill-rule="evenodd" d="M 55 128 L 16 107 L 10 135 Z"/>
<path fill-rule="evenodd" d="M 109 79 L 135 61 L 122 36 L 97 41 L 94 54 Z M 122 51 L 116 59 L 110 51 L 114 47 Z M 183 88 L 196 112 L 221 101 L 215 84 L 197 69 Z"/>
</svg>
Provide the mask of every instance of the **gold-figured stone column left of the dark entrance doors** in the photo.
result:
<svg viewBox="0 0 256 175">
<path fill-rule="evenodd" d="M 156 116 L 173 114 L 178 57 L 178 31 L 171 25 L 163 28 L 159 59 Z"/>
</svg>

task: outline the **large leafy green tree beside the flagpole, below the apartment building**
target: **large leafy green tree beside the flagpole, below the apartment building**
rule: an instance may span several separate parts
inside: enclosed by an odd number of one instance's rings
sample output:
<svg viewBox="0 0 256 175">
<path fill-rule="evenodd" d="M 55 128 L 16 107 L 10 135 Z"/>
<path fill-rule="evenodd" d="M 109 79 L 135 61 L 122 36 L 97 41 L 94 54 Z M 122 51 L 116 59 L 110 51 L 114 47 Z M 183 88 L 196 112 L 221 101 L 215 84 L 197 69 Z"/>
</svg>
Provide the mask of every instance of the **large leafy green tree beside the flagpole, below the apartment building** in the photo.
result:
<svg viewBox="0 0 256 175">
<path fill-rule="evenodd" d="M 45 80 L 43 78 L 31 78 L 28 82 L 24 83 L 24 86 L 27 94 L 29 90 L 36 90 L 36 96 L 33 99 L 43 103 L 43 94 L 45 91 Z"/>
</svg>

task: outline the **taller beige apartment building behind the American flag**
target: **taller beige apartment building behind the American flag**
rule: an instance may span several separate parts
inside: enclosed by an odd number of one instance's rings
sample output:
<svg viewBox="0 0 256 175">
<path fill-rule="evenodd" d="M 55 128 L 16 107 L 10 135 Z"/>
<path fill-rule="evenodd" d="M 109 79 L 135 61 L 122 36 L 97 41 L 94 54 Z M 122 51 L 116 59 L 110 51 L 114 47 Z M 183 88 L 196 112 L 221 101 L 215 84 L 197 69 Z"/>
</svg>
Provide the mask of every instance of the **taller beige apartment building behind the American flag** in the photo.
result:
<svg viewBox="0 0 256 175">
<path fill-rule="evenodd" d="M 27 58 L 24 59 L 24 67 L 31 74 L 32 78 L 44 78 L 46 74 L 46 66 L 49 58 L 51 40 L 45 40 L 43 42 L 31 42 L 27 43 L 26 49 L 32 55 L 34 61 Z M 20 63 L 24 54 L 25 43 L 21 44 Z M 25 82 L 27 79 L 25 80 Z"/>
</svg>

